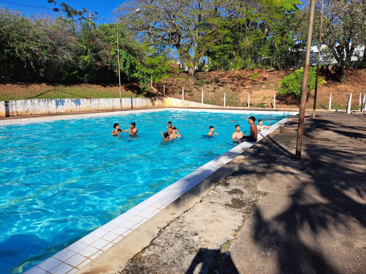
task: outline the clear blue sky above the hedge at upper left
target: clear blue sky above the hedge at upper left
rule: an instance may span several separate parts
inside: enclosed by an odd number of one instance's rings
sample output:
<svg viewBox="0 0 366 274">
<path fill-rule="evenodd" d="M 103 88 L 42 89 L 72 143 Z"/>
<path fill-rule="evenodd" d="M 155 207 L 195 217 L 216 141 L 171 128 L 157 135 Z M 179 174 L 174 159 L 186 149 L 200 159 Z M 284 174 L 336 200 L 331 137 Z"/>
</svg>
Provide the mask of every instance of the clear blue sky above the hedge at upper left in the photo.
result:
<svg viewBox="0 0 366 274">
<path fill-rule="evenodd" d="M 113 22 L 113 9 L 117 8 L 123 0 L 56 0 L 58 4 L 65 2 L 75 9 L 86 8 L 88 11 L 98 12 L 97 22 L 99 24 Z M 47 0 L 0 0 L 0 5 L 10 9 L 17 9 L 25 14 L 56 14 L 49 8 L 58 7 L 54 4 L 47 3 Z M 29 7 L 31 6 L 31 7 Z M 47 9 L 48 8 L 48 9 Z M 101 19 L 104 17 L 104 19 Z"/>
</svg>

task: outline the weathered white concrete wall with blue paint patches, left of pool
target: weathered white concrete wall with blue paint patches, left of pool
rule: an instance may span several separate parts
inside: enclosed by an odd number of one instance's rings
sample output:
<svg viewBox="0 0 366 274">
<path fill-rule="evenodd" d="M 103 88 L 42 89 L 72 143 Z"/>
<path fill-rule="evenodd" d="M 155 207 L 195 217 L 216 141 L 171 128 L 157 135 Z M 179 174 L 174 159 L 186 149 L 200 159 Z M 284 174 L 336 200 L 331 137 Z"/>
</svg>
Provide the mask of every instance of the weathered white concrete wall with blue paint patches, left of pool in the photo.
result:
<svg viewBox="0 0 366 274">
<path fill-rule="evenodd" d="M 122 98 L 122 109 L 163 107 L 165 98 Z M 0 117 L 70 113 L 79 111 L 120 110 L 119 98 L 29 99 L 0 102 Z"/>
</svg>

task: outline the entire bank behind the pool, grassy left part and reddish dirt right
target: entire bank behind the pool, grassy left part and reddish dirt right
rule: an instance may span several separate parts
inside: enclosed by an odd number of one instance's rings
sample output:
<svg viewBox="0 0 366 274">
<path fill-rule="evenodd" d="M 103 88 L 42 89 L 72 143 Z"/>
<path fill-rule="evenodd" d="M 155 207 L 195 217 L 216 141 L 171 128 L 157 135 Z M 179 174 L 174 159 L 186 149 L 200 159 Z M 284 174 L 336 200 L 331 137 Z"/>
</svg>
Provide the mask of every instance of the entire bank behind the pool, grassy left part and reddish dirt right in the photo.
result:
<svg viewBox="0 0 366 274">
<path fill-rule="evenodd" d="M 280 81 L 292 71 L 265 71 L 263 69 L 240 71 L 197 72 L 198 84 L 187 81 L 186 73 L 179 73 L 164 81 L 154 83 L 149 94 L 142 94 L 138 83 L 122 83 L 122 97 L 154 97 L 165 95 L 174 98 L 223 105 L 247 107 L 250 94 L 251 107 L 273 107 L 276 92 L 281 89 Z M 317 93 L 317 109 L 328 109 L 332 93 L 332 109 L 345 109 L 350 92 L 353 93 L 352 109 L 357 109 L 359 93 L 366 92 L 366 69 L 347 70 L 347 84 L 341 85 L 332 70 L 321 70 L 320 76 L 327 81 L 320 85 Z M 312 91 L 314 95 L 314 91 Z M 19 99 L 61 99 L 61 98 L 118 98 L 119 85 L 78 84 L 58 85 L 45 83 L 0 84 L 0 101 Z M 310 98 L 306 107 L 313 108 Z M 298 108 L 298 100 L 276 96 L 276 108 Z"/>
</svg>

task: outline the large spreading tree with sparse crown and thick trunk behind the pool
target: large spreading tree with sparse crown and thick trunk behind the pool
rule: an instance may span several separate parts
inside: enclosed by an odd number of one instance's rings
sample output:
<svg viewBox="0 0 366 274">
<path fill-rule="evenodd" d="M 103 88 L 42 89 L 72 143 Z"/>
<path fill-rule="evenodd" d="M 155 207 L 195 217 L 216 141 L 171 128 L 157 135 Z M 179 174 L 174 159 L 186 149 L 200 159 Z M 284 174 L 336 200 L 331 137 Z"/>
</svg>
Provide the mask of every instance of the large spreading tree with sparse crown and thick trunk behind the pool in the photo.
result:
<svg viewBox="0 0 366 274">
<path fill-rule="evenodd" d="M 188 68 L 188 78 L 197 83 L 199 59 L 233 28 L 244 1 L 234 0 L 128 0 L 116 9 L 117 19 L 135 7 L 141 14 L 129 19 L 127 27 L 142 42 L 157 49 L 173 50 Z"/>
</svg>

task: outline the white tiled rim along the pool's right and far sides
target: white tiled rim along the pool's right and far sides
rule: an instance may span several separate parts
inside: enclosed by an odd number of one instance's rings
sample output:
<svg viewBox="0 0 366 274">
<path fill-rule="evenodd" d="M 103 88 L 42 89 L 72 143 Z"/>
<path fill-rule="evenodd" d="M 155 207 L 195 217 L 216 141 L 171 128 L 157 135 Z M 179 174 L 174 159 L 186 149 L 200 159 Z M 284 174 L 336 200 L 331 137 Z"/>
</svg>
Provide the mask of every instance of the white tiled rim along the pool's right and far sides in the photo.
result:
<svg viewBox="0 0 366 274">
<path fill-rule="evenodd" d="M 175 109 L 163 109 L 163 110 L 175 110 Z M 208 111 L 208 112 L 228 112 L 227 110 L 198 110 L 198 109 L 179 109 L 179 110 L 190 110 L 190 111 Z M 158 110 L 137 110 L 134 113 L 138 112 L 152 112 L 152 111 L 162 111 Z M 231 112 L 231 111 L 229 111 Z M 242 113 L 262 113 L 262 114 L 273 114 L 273 111 L 235 111 Z M 131 113 L 131 112 L 128 112 Z M 126 112 L 116 113 L 113 112 L 111 115 L 115 114 L 128 114 Z M 298 114 L 297 112 L 275 112 L 276 114 L 284 114 L 287 117 L 283 118 L 281 121 L 273 124 L 270 129 L 267 129 L 263 132 L 258 133 L 258 141 L 267 136 L 268 134 L 275 131 L 279 126 L 283 125 L 285 122 L 289 121 L 294 115 Z M 92 116 L 109 116 L 107 115 L 90 115 L 81 116 L 81 117 L 72 117 L 73 118 L 84 118 L 84 117 L 92 117 Z M 83 115 L 83 114 L 82 114 Z M 89 116 L 90 115 L 90 116 Z M 66 115 L 69 116 L 77 116 L 77 115 Z M 52 117 L 55 118 L 55 117 Z M 64 118 L 57 118 L 64 119 Z M 70 119 L 70 118 L 68 118 Z M 22 123 L 33 122 L 33 121 L 22 121 Z M 35 120 L 35 122 L 39 122 L 39 120 Z M 19 123 L 19 122 L 17 122 Z M 82 239 L 76 241 L 71 244 L 67 248 L 64 248 L 60 252 L 56 253 L 52 257 L 44 260 L 42 263 L 34 266 L 30 270 L 26 271 L 24 274 L 73 274 L 87 263 L 91 262 L 93 259 L 97 258 L 104 251 L 108 250 L 108 248 L 112 247 L 115 243 L 123 239 L 124 236 L 131 233 L 135 228 L 139 227 L 139 225 L 143 224 L 149 218 L 153 217 L 155 214 L 164 209 L 171 202 L 178 199 L 181 195 L 186 193 L 188 190 L 196 186 L 203 179 L 211 175 L 213 172 L 218 170 L 224 164 L 227 164 L 229 161 L 233 160 L 236 156 L 242 154 L 252 145 L 254 142 L 243 142 L 230 149 L 229 151 L 223 153 L 222 155 L 216 157 L 212 161 L 209 161 L 205 165 L 202 165 L 197 170 L 191 172 L 187 176 L 184 176 L 182 179 L 176 181 L 165 189 L 159 191 L 154 194 L 150 198 L 147 198 L 145 201 L 139 203 L 134 206 L 127 212 L 108 222 L 107 224 L 101 226 L 95 231 L 89 233 Z"/>
</svg>

